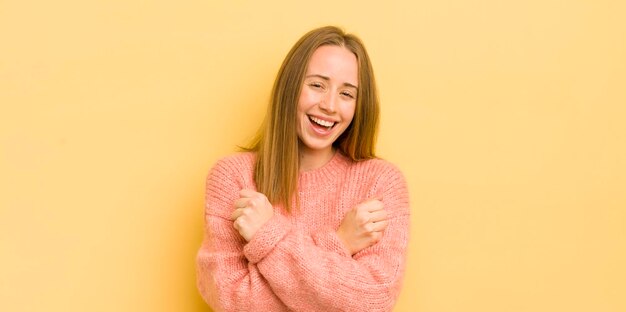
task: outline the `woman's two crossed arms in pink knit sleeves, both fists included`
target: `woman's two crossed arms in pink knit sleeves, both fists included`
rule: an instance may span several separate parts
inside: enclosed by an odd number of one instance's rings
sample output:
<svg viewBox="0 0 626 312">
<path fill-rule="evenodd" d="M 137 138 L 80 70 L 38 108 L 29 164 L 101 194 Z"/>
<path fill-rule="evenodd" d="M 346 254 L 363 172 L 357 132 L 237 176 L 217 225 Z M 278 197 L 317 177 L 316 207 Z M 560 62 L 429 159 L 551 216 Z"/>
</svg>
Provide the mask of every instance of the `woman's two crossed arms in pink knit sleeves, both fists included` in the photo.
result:
<svg viewBox="0 0 626 312">
<path fill-rule="evenodd" d="M 262 194 L 233 183 L 234 196 L 224 196 L 209 179 L 200 292 L 216 310 L 390 311 L 408 240 L 406 185 L 390 182 L 339 229 L 310 235 L 274 214 Z M 364 222 L 372 212 L 380 221 Z"/>
</svg>

